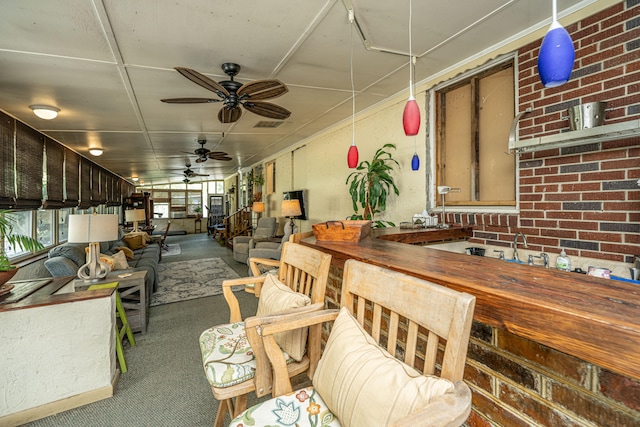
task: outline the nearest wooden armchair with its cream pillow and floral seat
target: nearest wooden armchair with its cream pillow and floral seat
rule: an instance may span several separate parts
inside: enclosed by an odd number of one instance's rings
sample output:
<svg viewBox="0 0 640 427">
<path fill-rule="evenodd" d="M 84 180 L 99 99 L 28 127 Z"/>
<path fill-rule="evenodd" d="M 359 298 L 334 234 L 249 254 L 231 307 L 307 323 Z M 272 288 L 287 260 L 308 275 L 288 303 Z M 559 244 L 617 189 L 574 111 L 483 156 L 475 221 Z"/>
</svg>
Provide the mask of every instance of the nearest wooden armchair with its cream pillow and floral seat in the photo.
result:
<svg viewBox="0 0 640 427">
<path fill-rule="evenodd" d="M 462 376 L 475 297 L 348 260 L 340 305 L 339 311 L 266 316 L 259 328 L 247 322 L 251 345 L 264 346 L 273 365 L 277 397 L 249 408 L 231 427 L 459 426 L 466 421 L 471 391 Z M 320 358 L 322 323 L 334 319 Z M 292 392 L 274 334 L 303 326 L 309 327 L 313 386 Z"/>
</svg>

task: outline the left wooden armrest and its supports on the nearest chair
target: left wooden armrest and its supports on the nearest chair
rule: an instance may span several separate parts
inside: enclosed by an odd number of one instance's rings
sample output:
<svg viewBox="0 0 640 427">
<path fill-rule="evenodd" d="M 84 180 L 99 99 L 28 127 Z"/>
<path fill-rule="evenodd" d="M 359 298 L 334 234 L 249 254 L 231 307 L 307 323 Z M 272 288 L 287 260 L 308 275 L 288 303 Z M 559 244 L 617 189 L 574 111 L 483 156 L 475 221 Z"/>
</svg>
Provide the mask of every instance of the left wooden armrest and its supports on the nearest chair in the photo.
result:
<svg viewBox="0 0 640 427">
<path fill-rule="evenodd" d="M 330 309 L 298 314 L 274 315 L 271 316 L 272 319 L 269 319 L 269 321 L 260 328 L 252 328 L 253 331 L 256 331 L 256 333 L 262 336 L 264 352 L 269 362 L 271 362 L 273 369 L 272 396 L 281 396 L 293 391 L 284 353 L 275 341 L 273 334 L 305 326 L 309 327 L 307 357 L 309 358 L 309 377 L 311 378 L 313 377 L 313 372 L 315 372 L 318 360 L 320 360 L 322 324 L 335 320 L 336 317 L 338 317 L 338 312 L 339 310 Z M 279 317 L 279 319 L 276 317 Z"/>
</svg>

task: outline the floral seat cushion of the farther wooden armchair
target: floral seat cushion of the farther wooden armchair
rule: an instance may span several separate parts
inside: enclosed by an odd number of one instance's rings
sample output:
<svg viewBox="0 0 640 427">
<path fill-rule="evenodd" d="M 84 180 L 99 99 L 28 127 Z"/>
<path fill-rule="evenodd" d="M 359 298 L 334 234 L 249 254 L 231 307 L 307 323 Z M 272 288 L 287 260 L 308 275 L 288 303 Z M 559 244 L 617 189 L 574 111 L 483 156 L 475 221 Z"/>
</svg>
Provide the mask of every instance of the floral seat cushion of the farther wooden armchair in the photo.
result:
<svg viewBox="0 0 640 427">
<path fill-rule="evenodd" d="M 244 322 L 207 329 L 200 335 L 202 365 L 214 387 L 231 387 L 255 375 L 256 360 L 244 331 Z M 287 363 L 293 362 L 286 353 Z"/>
</svg>

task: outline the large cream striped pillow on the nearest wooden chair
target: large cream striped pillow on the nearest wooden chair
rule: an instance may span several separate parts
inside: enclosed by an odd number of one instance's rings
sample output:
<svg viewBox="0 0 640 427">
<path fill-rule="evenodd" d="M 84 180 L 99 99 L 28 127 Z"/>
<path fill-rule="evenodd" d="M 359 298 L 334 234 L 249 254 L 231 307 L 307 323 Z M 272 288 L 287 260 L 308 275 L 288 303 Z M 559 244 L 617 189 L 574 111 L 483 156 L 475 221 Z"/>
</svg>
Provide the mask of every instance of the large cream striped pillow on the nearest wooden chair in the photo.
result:
<svg viewBox="0 0 640 427">
<path fill-rule="evenodd" d="M 453 391 L 380 347 L 342 308 L 313 376 L 313 386 L 343 426 L 390 425 Z"/>
</svg>

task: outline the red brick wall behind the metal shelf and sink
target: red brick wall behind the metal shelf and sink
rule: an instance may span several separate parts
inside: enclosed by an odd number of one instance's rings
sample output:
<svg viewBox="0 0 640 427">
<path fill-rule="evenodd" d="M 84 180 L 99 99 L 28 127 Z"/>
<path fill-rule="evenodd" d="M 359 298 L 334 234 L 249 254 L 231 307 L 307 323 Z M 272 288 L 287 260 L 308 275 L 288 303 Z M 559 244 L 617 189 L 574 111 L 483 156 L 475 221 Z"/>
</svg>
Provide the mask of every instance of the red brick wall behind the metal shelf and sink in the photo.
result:
<svg viewBox="0 0 640 427">
<path fill-rule="evenodd" d="M 541 40 L 519 49 L 518 111 L 527 139 L 569 131 L 569 107 L 607 101 L 605 124 L 640 119 L 640 1 L 627 0 L 566 27 L 576 47 L 571 79 L 544 88 L 537 75 Z M 509 246 L 514 233 L 547 253 L 632 262 L 640 254 L 640 137 L 523 153 L 519 214 L 447 213 L 474 225 L 470 242 Z"/>
</svg>

